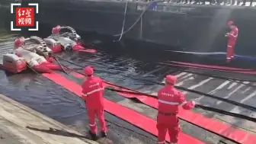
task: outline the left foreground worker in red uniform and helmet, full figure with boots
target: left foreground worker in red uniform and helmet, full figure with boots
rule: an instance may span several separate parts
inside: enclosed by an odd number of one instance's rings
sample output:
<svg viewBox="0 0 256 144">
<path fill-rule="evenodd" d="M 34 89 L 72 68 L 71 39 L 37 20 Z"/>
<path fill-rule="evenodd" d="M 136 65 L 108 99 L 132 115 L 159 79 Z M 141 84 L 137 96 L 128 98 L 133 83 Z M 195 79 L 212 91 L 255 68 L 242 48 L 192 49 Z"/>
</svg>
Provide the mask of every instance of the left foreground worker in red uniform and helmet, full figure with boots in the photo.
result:
<svg viewBox="0 0 256 144">
<path fill-rule="evenodd" d="M 95 123 L 95 115 L 101 125 L 101 135 L 107 136 L 107 127 L 104 119 L 104 86 L 101 78 L 94 76 L 94 70 L 91 66 L 84 69 L 87 76 L 82 84 L 82 98 L 85 100 L 87 113 L 89 118 L 90 134 L 92 139 L 97 139 L 97 124 Z"/>
</svg>

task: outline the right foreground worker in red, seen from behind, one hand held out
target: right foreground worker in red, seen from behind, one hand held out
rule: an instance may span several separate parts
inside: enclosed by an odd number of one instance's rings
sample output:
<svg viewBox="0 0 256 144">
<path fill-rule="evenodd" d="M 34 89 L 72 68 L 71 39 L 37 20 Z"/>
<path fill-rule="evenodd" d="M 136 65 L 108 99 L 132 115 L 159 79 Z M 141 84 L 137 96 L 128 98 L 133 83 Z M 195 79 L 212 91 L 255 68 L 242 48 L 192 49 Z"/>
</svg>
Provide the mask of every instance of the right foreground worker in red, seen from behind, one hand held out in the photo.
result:
<svg viewBox="0 0 256 144">
<path fill-rule="evenodd" d="M 190 110 L 195 106 L 194 101 L 186 101 L 184 94 L 174 88 L 176 81 L 174 75 L 166 75 L 165 87 L 158 91 L 158 144 L 165 144 L 167 131 L 171 144 L 177 144 L 178 133 L 181 130 L 177 116 L 178 107 Z"/>
</svg>

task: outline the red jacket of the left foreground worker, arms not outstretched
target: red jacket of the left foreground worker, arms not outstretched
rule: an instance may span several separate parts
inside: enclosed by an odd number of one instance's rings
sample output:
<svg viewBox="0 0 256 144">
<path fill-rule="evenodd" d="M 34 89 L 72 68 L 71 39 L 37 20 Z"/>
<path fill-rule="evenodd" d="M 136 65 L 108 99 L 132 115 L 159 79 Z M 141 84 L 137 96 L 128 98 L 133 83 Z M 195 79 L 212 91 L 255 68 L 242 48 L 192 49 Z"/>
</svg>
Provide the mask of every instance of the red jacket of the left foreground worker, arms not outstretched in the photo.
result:
<svg viewBox="0 0 256 144">
<path fill-rule="evenodd" d="M 88 109 L 104 107 L 103 99 L 104 86 L 101 78 L 88 77 L 82 84 L 82 98 L 85 100 Z"/>
</svg>

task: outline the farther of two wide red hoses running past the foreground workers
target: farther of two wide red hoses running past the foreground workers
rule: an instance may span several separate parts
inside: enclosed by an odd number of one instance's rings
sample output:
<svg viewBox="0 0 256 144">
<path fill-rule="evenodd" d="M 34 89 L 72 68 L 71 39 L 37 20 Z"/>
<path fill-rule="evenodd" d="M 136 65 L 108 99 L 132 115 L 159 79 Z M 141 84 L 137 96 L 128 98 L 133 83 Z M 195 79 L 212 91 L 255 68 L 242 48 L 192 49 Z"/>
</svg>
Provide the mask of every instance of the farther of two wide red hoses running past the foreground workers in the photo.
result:
<svg viewBox="0 0 256 144">
<path fill-rule="evenodd" d="M 72 72 L 71 74 L 76 78 L 85 77 L 80 72 Z M 123 88 L 119 85 L 111 84 L 110 82 L 104 82 L 104 85 L 107 87 L 114 88 L 114 91 L 117 91 L 118 94 L 125 98 L 136 98 L 143 104 L 158 109 L 158 100 L 156 97 L 154 98 L 154 96 L 149 97 L 148 94 L 142 94 L 137 91 L 130 90 L 129 88 Z M 216 133 L 219 136 L 223 136 L 226 139 L 230 139 L 235 142 L 243 144 L 252 144 L 256 140 L 256 136 L 251 133 L 247 133 L 244 130 L 235 129 L 234 127 L 226 123 L 210 119 L 208 117 L 203 116 L 202 114 L 194 113 L 191 110 L 183 110 L 181 107 L 179 108 L 178 117 L 182 120 L 185 120 L 189 123 L 193 123 L 194 125 L 200 126 L 205 130 L 209 130 L 212 133 Z"/>
</svg>

